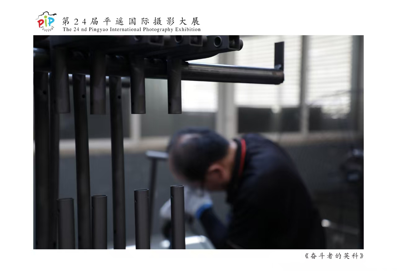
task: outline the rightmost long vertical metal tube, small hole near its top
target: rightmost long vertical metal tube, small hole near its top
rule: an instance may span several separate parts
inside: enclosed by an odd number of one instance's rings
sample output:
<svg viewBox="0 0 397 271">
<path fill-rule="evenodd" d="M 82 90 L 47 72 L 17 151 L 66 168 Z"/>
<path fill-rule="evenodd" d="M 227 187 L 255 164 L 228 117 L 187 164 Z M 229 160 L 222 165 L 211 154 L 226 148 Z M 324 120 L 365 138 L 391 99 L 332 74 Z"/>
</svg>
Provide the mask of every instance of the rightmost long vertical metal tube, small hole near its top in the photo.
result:
<svg viewBox="0 0 397 271">
<path fill-rule="evenodd" d="M 125 191 L 121 78 L 109 77 L 114 249 L 125 249 Z"/>
</svg>

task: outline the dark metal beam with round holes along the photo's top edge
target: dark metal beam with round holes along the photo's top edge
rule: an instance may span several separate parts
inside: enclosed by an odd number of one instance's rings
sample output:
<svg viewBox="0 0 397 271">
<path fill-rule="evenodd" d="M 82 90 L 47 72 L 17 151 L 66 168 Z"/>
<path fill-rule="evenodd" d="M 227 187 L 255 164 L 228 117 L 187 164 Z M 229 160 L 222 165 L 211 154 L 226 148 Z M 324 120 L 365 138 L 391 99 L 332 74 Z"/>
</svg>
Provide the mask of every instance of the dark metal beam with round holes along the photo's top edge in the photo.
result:
<svg viewBox="0 0 397 271">
<path fill-rule="evenodd" d="M 133 53 L 150 58 L 178 58 L 184 61 L 208 58 L 216 54 L 241 50 L 243 41 L 240 36 L 57 36 L 48 38 L 56 48 L 88 53 L 96 48 L 107 54 Z M 37 48 L 48 48 L 45 43 L 35 39 Z M 154 57 L 153 57 L 154 56 Z"/>
</svg>

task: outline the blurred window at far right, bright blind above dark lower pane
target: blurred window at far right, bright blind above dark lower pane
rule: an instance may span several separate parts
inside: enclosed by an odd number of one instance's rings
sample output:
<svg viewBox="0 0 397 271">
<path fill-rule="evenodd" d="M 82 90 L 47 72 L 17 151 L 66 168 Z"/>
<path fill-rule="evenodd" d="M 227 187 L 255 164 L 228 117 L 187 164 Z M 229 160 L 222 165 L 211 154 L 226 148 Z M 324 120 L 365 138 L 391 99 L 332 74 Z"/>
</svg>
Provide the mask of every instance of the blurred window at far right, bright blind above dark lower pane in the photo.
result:
<svg viewBox="0 0 397 271">
<path fill-rule="evenodd" d="M 349 127 L 352 43 L 352 36 L 308 37 L 306 91 L 310 130 Z"/>
</svg>

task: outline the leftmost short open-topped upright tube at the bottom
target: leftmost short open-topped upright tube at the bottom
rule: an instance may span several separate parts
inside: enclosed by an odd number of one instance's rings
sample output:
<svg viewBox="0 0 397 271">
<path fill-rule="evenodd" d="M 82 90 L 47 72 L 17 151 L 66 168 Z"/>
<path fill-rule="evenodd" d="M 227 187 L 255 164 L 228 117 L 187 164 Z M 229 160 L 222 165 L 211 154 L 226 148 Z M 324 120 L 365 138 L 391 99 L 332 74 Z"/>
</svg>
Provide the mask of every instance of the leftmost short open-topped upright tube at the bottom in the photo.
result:
<svg viewBox="0 0 397 271">
<path fill-rule="evenodd" d="M 75 249 L 74 201 L 58 199 L 58 248 Z"/>
</svg>

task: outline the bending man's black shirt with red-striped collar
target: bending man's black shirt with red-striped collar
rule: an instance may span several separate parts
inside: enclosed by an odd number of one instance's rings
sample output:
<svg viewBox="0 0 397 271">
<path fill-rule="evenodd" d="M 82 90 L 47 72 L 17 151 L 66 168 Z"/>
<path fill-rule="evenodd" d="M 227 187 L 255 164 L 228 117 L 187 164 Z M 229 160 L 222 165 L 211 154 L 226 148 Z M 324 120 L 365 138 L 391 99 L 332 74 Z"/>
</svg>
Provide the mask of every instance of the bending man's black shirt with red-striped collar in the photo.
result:
<svg viewBox="0 0 397 271">
<path fill-rule="evenodd" d="M 322 249 L 324 229 L 304 182 L 289 155 L 257 134 L 242 137 L 233 178 L 227 190 L 231 219 L 222 225 L 212 209 L 202 213 L 208 237 L 216 248 Z M 243 170 L 240 172 L 241 163 Z"/>
</svg>

